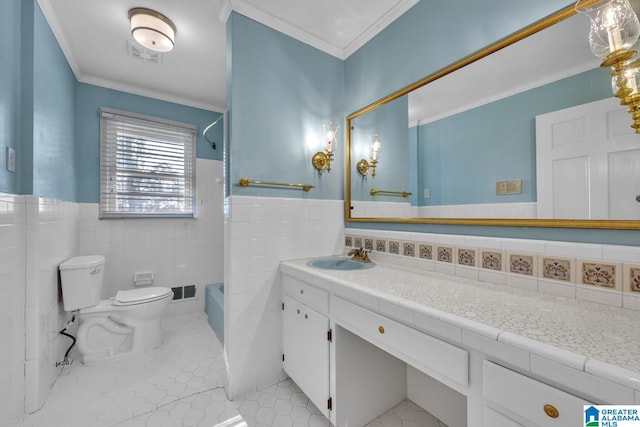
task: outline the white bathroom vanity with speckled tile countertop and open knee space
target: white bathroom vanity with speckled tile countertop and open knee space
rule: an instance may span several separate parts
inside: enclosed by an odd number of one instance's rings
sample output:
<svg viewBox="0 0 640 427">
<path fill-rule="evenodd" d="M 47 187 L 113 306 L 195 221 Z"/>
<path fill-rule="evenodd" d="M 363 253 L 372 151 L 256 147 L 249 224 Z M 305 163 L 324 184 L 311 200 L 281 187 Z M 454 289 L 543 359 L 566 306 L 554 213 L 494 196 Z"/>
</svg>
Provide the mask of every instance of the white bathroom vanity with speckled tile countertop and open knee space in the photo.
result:
<svg viewBox="0 0 640 427">
<path fill-rule="evenodd" d="M 640 312 L 378 263 L 282 262 L 283 367 L 336 426 L 409 398 L 449 427 L 640 404 Z"/>
</svg>

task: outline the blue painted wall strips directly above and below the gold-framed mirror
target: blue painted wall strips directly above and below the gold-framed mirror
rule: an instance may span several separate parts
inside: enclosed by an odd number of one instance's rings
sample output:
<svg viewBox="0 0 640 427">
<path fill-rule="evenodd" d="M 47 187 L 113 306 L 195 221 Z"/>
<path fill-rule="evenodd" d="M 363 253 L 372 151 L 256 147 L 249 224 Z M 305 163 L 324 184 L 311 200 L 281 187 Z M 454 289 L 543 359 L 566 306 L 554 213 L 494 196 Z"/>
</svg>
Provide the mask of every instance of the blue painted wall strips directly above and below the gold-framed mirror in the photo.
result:
<svg viewBox="0 0 640 427">
<path fill-rule="evenodd" d="M 346 112 L 369 105 L 570 4 L 573 2 L 566 0 L 421 1 L 345 61 Z M 348 226 L 640 245 L 638 231 L 390 223 Z"/>
</svg>

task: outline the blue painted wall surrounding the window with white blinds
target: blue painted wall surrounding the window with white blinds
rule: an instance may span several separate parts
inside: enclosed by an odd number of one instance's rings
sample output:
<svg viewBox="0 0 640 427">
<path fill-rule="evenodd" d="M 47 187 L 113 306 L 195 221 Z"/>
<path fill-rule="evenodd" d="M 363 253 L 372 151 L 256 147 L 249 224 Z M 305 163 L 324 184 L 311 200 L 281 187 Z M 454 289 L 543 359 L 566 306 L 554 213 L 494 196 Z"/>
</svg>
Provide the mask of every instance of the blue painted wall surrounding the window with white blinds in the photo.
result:
<svg viewBox="0 0 640 427">
<path fill-rule="evenodd" d="M 78 198 L 83 203 L 100 201 L 100 108 L 108 107 L 132 113 L 146 114 L 178 122 L 190 123 L 198 128 L 197 157 L 222 160 L 222 121 L 208 133 L 216 143 L 211 147 L 202 131 L 221 113 L 187 107 L 144 96 L 107 89 L 85 83 L 77 84 L 77 149 Z"/>
</svg>

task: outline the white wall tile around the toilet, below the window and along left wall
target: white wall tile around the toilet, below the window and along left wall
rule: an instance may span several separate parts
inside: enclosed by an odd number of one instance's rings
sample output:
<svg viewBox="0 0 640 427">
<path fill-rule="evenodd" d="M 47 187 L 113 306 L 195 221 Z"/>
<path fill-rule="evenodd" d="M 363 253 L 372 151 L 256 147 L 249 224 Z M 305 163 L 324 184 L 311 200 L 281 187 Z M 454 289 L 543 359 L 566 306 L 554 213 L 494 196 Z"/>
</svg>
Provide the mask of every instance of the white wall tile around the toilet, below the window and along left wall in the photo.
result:
<svg viewBox="0 0 640 427">
<path fill-rule="evenodd" d="M 70 341 L 58 334 L 70 317 L 58 283 L 66 259 L 105 255 L 105 298 L 152 270 L 155 285 L 198 288 L 168 315 L 203 311 L 204 286 L 223 277 L 221 182 L 222 162 L 197 160 L 196 220 L 101 221 L 95 203 L 0 194 L 0 340 L 9 349 L 0 356 L 0 425 L 39 409 L 60 372 Z"/>
</svg>

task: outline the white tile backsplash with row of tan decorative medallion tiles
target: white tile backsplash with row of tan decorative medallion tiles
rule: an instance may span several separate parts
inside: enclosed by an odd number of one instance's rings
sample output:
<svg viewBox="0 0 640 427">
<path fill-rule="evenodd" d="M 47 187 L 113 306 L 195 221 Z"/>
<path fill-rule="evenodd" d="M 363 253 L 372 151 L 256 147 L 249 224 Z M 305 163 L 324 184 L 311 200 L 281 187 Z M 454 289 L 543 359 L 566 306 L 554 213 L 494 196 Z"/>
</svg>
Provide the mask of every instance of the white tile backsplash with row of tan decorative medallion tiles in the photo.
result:
<svg viewBox="0 0 640 427">
<path fill-rule="evenodd" d="M 640 310 L 640 247 L 360 229 L 346 230 L 345 247 L 382 262 Z"/>
</svg>

